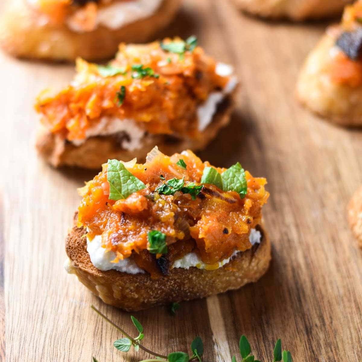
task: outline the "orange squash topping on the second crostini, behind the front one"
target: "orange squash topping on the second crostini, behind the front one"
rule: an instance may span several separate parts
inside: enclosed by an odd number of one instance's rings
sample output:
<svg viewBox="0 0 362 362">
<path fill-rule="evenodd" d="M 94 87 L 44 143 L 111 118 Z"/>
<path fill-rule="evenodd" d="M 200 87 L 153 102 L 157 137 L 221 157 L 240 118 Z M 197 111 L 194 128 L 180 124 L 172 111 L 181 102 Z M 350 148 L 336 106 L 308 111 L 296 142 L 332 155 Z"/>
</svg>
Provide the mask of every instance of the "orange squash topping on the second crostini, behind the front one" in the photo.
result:
<svg viewBox="0 0 362 362">
<path fill-rule="evenodd" d="M 230 79 L 216 74 L 215 61 L 201 47 L 186 47 L 180 53 L 165 50 L 170 44 L 186 43 L 175 38 L 121 44 L 108 66 L 78 59 L 69 87 L 37 98 L 41 122 L 69 141 L 84 140 L 87 131 L 111 119 L 132 119 L 151 134 L 201 137 L 197 107 Z"/>
</svg>

